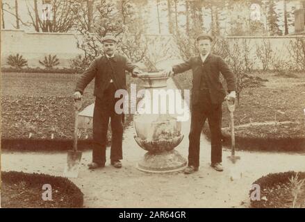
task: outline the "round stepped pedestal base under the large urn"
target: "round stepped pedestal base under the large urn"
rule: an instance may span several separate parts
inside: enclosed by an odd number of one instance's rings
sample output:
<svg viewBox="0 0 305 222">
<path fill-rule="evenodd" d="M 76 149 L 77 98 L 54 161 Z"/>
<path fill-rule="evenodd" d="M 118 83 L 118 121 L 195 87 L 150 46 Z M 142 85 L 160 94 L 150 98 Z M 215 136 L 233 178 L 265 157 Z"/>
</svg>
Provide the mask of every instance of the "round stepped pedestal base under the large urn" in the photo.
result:
<svg viewBox="0 0 305 222">
<path fill-rule="evenodd" d="M 137 164 L 138 170 L 149 173 L 182 171 L 186 166 L 186 159 L 175 150 L 162 153 L 147 152 L 144 158 Z"/>
</svg>

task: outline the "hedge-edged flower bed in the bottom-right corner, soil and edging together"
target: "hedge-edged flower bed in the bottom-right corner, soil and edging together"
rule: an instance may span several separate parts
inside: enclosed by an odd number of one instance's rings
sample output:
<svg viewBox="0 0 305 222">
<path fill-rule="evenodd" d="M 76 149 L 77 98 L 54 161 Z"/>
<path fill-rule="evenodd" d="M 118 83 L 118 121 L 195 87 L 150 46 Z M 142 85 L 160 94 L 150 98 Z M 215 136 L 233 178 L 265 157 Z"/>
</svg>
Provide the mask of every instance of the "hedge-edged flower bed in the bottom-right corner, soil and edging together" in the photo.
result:
<svg viewBox="0 0 305 222">
<path fill-rule="evenodd" d="M 297 192 L 298 195 L 295 199 L 293 194 L 295 189 L 289 181 L 296 174 L 294 171 L 270 173 L 253 182 L 253 184 L 260 186 L 261 200 L 251 200 L 251 206 L 255 208 L 288 208 L 293 206 L 295 200 L 295 207 L 305 207 L 305 184 Z M 305 179 L 305 172 L 299 173 L 299 180 L 302 179 Z M 252 191 L 254 190 L 249 192 L 250 197 Z"/>
</svg>

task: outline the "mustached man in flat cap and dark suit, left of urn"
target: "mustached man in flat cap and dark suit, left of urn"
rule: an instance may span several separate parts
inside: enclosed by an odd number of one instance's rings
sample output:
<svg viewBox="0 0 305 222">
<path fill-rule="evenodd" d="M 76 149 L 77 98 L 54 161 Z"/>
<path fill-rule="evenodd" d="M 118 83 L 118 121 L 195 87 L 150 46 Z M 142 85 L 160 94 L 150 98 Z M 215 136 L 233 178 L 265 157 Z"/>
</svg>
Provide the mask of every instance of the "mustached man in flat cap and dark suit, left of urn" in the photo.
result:
<svg viewBox="0 0 305 222">
<path fill-rule="evenodd" d="M 126 89 L 126 71 L 133 77 L 142 71 L 133 65 L 125 56 L 115 53 L 117 40 L 113 35 L 102 39 L 104 56 L 96 58 L 85 70 L 76 83 L 74 99 L 81 99 L 85 87 L 94 78 L 94 96 L 96 96 L 93 112 L 93 151 L 89 169 L 104 167 L 106 162 L 106 140 L 109 119 L 111 119 L 111 150 L 110 163 L 115 168 L 121 168 L 122 139 L 124 114 L 115 112 L 117 89 Z"/>
</svg>

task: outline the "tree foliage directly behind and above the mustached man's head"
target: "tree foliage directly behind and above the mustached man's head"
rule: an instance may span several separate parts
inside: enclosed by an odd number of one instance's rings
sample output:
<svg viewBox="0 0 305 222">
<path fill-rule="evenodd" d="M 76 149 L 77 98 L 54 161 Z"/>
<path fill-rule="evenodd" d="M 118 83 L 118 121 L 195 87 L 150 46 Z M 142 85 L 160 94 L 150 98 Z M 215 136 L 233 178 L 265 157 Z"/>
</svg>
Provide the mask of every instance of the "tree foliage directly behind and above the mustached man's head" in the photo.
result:
<svg viewBox="0 0 305 222">
<path fill-rule="evenodd" d="M 126 1 L 94 1 L 92 32 L 88 27 L 88 8 L 77 0 L 73 9 L 76 18 L 76 29 L 82 35 L 76 36 L 77 47 L 83 50 L 85 59 L 94 60 L 103 54 L 101 39 L 106 34 L 113 34 L 118 40 L 118 51 L 133 62 L 144 58 L 147 51 L 144 24 L 139 12 L 130 0 Z M 135 26 L 137 24 L 137 26 Z"/>
</svg>

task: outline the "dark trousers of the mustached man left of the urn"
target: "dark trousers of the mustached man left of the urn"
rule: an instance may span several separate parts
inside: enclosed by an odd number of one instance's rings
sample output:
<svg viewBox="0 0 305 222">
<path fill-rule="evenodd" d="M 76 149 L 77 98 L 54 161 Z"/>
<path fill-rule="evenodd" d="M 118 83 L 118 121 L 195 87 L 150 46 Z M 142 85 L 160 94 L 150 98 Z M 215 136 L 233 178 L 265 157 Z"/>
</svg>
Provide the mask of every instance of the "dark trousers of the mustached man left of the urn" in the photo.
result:
<svg viewBox="0 0 305 222">
<path fill-rule="evenodd" d="M 106 142 L 109 119 L 111 119 L 111 160 L 122 160 L 123 123 L 122 114 L 115 112 L 115 86 L 109 84 L 104 92 L 103 99 L 95 99 L 93 113 L 93 140 L 92 162 L 99 164 L 106 162 Z"/>
</svg>

